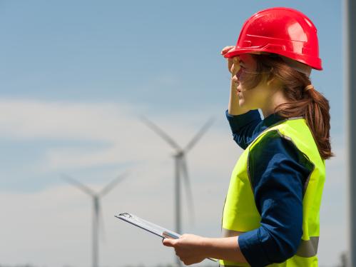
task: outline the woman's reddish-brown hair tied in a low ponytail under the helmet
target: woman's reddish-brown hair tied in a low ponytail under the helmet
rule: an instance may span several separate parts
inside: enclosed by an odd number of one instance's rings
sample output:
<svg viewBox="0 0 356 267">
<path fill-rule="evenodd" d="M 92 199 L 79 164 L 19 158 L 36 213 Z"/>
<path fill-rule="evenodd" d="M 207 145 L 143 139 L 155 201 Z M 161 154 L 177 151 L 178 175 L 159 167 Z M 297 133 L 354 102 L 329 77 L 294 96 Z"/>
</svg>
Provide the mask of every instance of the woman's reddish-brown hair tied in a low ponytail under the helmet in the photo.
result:
<svg viewBox="0 0 356 267">
<path fill-rule="evenodd" d="M 333 156 L 330 145 L 330 106 L 320 92 L 312 86 L 308 76 L 285 64 L 280 56 L 274 54 L 252 55 L 256 59 L 255 73 L 248 74 L 243 84 L 253 89 L 261 81 L 277 79 L 288 103 L 280 104 L 275 113 L 291 118 L 302 116 L 314 137 L 317 149 L 323 159 Z"/>
</svg>

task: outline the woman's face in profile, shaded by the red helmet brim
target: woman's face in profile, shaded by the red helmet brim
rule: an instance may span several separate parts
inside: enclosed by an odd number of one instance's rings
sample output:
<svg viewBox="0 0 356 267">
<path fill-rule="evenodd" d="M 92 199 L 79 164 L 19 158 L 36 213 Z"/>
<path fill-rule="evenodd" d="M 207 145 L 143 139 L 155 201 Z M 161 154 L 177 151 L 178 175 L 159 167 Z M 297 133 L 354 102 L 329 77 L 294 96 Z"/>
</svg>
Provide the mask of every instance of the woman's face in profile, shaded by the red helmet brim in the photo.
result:
<svg viewBox="0 0 356 267">
<path fill-rule="evenodd" d="M 269 91 L 266 87 L 265 81 L 261 81 L 258 86 L 253 89 L 246 89 L 244 87 L 244 81 L 248 76 L 255 74 L 256 61 L 250 54 L 242 54 L 239 56 L 238 62 L 240 63 L 240 69 L 238 73 L 233 76 L 233 81 L 236 86 L 236 94 L 238 95 L 238 104 L 240 107 L 246 109 L 261 109 L 268 101 Z M 247 78 L 248 77 L 248 78 Z"/>
</svg>

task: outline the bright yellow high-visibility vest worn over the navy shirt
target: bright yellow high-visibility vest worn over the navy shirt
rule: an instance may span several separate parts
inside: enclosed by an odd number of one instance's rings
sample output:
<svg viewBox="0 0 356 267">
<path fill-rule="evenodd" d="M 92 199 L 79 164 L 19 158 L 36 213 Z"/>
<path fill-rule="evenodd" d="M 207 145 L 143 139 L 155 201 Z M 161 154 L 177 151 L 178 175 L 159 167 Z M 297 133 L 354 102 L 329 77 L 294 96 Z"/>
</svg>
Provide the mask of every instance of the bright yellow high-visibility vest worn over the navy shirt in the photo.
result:
<svg viewBox="0 0 356 267">
<path fill-rule="evenodd" d="M 292 141 L 307 161 L 312 164 L 313 169 L 304 188 L 302 200 L 303 234 L 297 253 L 284 263 L 273 263 L 268 266 L 314 267 L 317 266 L 317 244 L 320 228 L 319 211 L 322 188 L 325 182 L 325 161 L 320 157 L 305 119 L 293 118 L 280 121 L 278 124 L 260 133 L 242 153 L 233 169 L 226 196 L 223 210 L 223 236 L 239 236 L 241 233 L 260 227 L 261 216 L 255 206 L 253 187 L 248 172 L 248 154 L 262 138 L 268 138 L 268 134 L 275 133 Z M 247 263 L 234 263 L 224 260 L 220 260 L 220 265 L 250 266 Z"/>
</svg>

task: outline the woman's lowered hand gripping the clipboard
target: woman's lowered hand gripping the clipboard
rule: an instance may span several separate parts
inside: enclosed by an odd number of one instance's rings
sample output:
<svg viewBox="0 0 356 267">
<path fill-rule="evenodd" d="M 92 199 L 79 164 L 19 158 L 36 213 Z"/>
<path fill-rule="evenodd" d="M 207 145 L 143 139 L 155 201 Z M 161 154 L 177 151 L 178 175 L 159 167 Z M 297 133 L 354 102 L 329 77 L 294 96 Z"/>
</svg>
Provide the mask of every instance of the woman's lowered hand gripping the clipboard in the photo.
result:
<svg viewBox="0 0 356 267">
<path fill-rule="evenodd" d="M 205 256 L 204 240 L 201 236 L 184 234 L 178 239 L 164 238 L 163 245 L 171 246 L 176 251 L 176 255 L 183 261 L 185 265 L 200 263 Z"/>
</svg>

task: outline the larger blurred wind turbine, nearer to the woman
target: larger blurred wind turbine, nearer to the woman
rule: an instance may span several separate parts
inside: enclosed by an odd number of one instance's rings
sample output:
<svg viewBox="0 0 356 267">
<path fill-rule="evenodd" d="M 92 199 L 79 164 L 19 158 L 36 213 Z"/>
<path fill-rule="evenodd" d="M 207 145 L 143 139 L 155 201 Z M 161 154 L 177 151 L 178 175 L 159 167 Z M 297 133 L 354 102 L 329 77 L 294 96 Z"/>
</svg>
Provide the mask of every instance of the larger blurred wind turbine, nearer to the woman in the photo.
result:
<svg viewBox="0 0 356 267">
<path fill-rule="evenodd" d="M 199 141 L 199 139 L 203 136 L 203 134 L 208 131 L 208 128 L 211 124 L 213 124 L 213 119 L 209 119 L 203 127 L 195 134 L 195 136 L 190 140 L 190 142 L 185 146 L 185 148 L 181 148 L 176 141 L 173 140 L 167 133 L 165 133 L 162 129 L 160 129 L 156 124 L 153 124 L 152 121 L 149 121 L 146 117 L 141 117 L 141 120 L 154 132 L 161 136 L 163 140 L 165 140 L 173 149 L 175 149 L 176 153 L 174 153 L 174 161 L 175 161 L 175 191 L 176 191 L 176 233 L 181 233 L 180 226 L 180 176 L 183 175 L 185 181 L 185 190 L 188 194 L 188 203 L 190 208 L 190 214 L 193 218 L 193 193 L 190 188 L 190 180 L 188 176 L 188 166 L 187 161 L 185 159 L 185 154 L 190 151 L 193 146 Z M 180 264 L 180 261 L 178 261 Z"/>
</svg>

